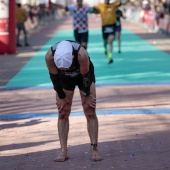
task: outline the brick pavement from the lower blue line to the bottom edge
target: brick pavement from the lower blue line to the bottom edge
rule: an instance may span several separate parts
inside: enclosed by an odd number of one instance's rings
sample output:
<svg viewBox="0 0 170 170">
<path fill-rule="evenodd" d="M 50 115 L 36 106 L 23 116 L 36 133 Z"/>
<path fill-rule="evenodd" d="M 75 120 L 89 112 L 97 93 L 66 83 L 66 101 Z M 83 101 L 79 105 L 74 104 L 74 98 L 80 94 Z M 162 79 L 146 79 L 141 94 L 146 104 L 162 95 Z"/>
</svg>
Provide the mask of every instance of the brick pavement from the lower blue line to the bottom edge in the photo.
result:
<svg viewBox="0 0 170 170">
<path fill-rule="evenodd" d="M 70 159 L 53 162 L 59 153 L 56 118 L 1 122 L 2 170 L 168 170 L 170 116 L 98 116 L 100 162 L 90 161 L 85 117 L 70 117 Z"/>
</svg>

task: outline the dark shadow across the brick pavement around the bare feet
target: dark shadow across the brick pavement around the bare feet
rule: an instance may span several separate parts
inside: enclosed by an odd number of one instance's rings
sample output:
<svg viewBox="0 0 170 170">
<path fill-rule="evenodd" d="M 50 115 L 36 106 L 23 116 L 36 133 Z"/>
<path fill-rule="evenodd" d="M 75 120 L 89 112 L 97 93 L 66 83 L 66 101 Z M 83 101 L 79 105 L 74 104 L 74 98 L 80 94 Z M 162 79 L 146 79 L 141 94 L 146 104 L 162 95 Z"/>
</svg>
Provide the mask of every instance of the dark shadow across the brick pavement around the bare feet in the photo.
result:
<svg viewBox="0 0 170 170">
<path fill-rule="evenodd" d="M 169 142 L 164 140 L 170 131 L 152 134 L 136 134 L 132 139 L 100 142 L 99 151 L 104 158 L 100 162 L 90 160 L 89 144 L 69 146 L 70 159 L 63 163 L 53 162 L 59 149 L 50 149 L 14 156 L 1 155 L 2 170 L 82 170 L 82 169 L 116 169 L 116 170 L 164 170 L 170 168 Z M 18 145 L 1 146 L 0 150 L 23 149 L 37 145 L 47 145 L 51 141 L 21 143 Z M 54 146 L 55 148 L 55 146 Z M 43 147 L 44 149 L 44 147 Z M 9 153 L 10 154 L 10 153 Z M 8 154 L 6 154 L 8 155 Z"/>
</svg>

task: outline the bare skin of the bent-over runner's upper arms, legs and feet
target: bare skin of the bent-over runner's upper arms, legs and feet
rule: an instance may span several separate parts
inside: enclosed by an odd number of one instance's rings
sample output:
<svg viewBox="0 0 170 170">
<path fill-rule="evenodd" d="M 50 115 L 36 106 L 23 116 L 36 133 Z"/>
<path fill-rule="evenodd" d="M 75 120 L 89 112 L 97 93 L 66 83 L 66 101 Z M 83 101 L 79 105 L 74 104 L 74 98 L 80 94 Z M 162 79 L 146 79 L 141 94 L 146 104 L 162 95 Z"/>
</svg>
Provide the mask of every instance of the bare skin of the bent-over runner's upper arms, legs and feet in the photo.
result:
<svg viewBox="0 0 170 170">
<path fill-rule="evenodd" d="M 74 57 L 74 56 L 73 56 Z M 49 69 L 49 72 L 52 74 L 58 74 L 57 67 L 54 64 L 54 58 L 51 50 L 49 50 L 46 54 L 46 64 Z M 80 73 L 86 74 L 89 71 L 89 57 L 86 50 L 81 47 L 78 53 L 78 62 L 80 65 Z M 64 69 L 62 69 L 64 70 Z M 68 141 L 68 132 L 69 132 L 69 115 L 71 112 L 72 99 L 74 95 L 74 91 L 68 91 L 63 89 L 66 97 L 64 99 L 60 99 L 58 94 L 56 93 L 56 105 L 58 108 L 58 134 L 61 145 L 61 152 L 54 159 L 56 162 L 63 162 L 68 159 L 67 153 L 67 141 Z M 96 89 L 95 84 L 92 82 L 90 87 L 90 95 L 84 96 L 82 91 L 80 90 L 80 96 L 82 101 L 82 107 L 87 119 L 87 130 L 90 137 L 91 144 L 98 143 L 98 119 L 96 116 Z M 99 155 L 97 146 L 90 146 L 91 150 L 91 160 L 92 161 L 100 161 L 102 157 Z"/>
</svg>

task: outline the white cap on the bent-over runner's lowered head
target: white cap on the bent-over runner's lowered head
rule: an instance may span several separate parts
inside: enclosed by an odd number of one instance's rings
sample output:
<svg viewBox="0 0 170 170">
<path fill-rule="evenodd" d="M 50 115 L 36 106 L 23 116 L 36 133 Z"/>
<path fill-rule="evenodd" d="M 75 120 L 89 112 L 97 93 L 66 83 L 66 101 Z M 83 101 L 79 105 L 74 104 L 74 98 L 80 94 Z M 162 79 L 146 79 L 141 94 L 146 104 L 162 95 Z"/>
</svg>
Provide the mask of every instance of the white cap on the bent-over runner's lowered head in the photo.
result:
<svg viewBox="0 0 170 170">
<path fill-rule="evenodd" d="M 54 53 L 54 63 L 57 68 L 68 69 L 73 61 L 73 48 L 69 41 L 61 41 L 56 47 Z"/>
</svg>

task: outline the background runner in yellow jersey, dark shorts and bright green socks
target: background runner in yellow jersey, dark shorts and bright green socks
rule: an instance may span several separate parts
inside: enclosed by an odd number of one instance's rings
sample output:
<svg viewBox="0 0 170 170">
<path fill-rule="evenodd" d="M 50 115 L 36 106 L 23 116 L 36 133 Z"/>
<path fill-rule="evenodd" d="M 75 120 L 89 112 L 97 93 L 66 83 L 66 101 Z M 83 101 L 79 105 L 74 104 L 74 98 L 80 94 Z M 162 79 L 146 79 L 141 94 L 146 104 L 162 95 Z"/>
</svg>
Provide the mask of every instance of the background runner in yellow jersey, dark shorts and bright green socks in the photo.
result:
<svg viewBox="0 0 170 170">
<path fill-rule="evenodd" d="M 104 50 L 109 59 L 108 64 L 113 63 L 112 51 L 116 27 L 116 9 L 118 6 L 121 6 L 120 1 L 110 3 L 110 0 L 105 0 L 105 3 L 94 6 L 95 13 L 100 13 L 101 15 Z"/>
</svg>

